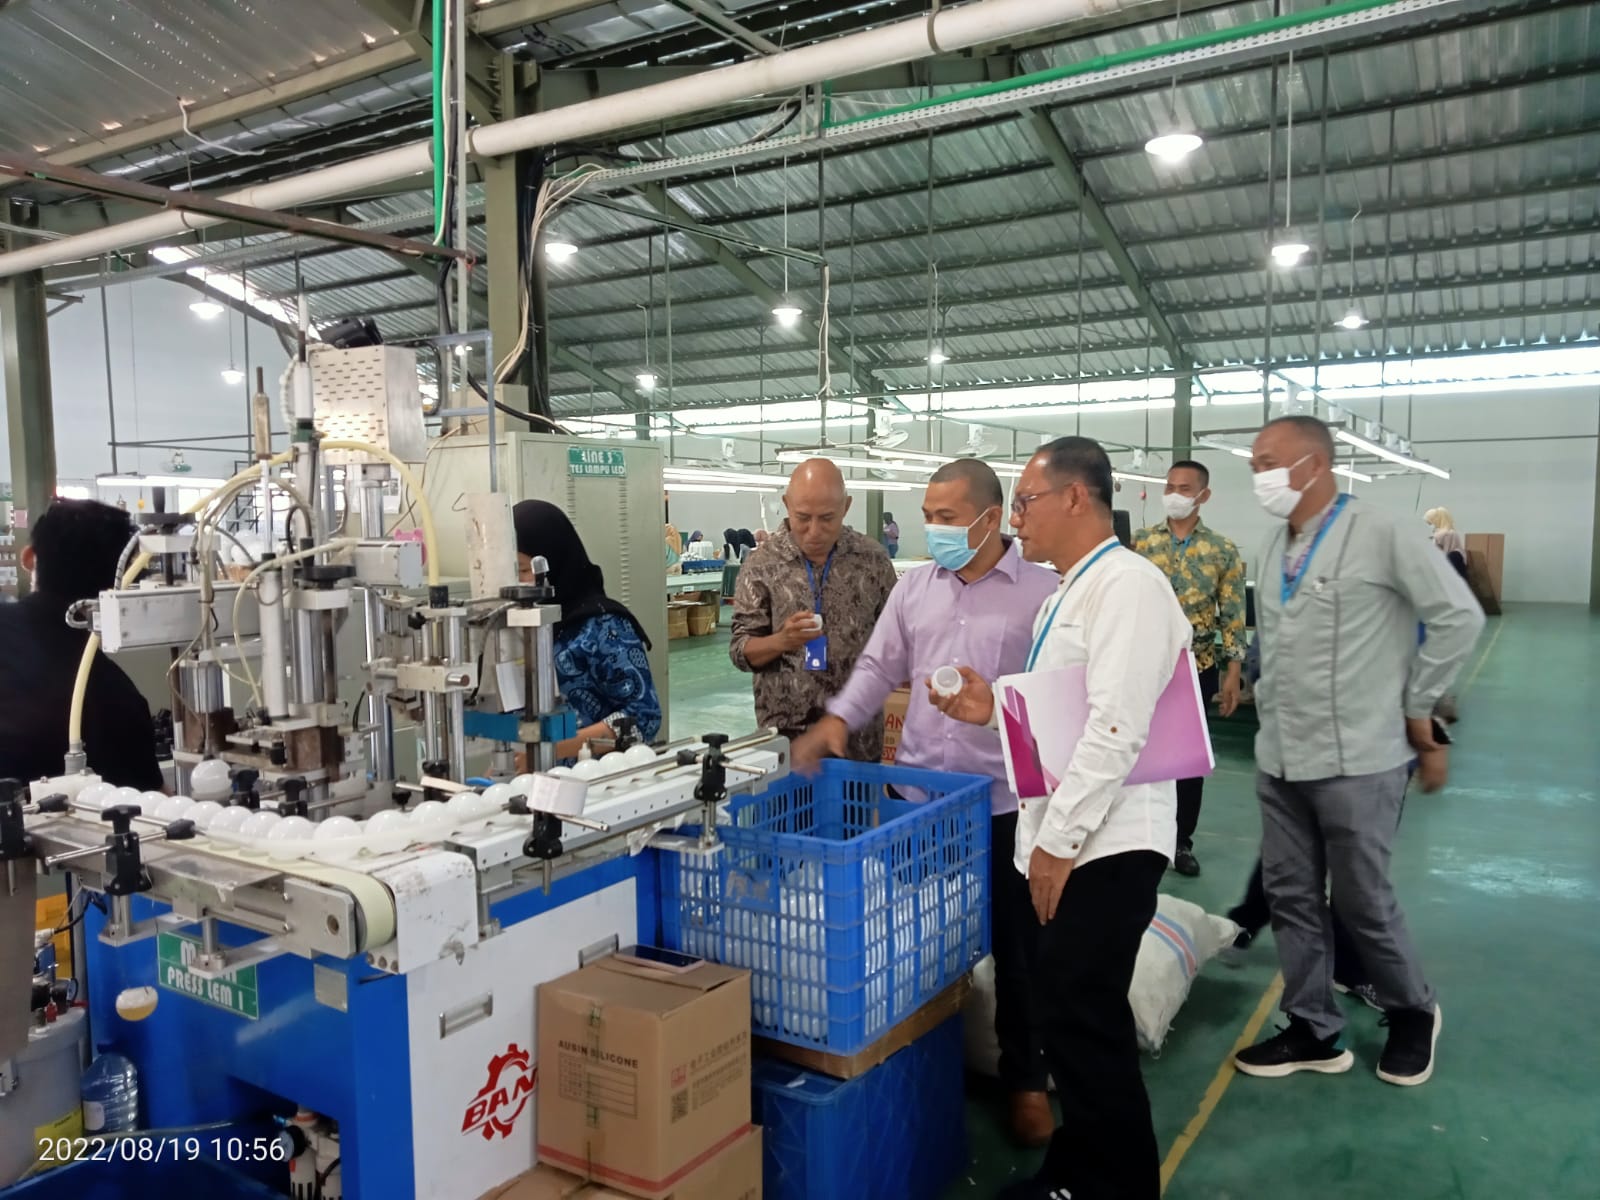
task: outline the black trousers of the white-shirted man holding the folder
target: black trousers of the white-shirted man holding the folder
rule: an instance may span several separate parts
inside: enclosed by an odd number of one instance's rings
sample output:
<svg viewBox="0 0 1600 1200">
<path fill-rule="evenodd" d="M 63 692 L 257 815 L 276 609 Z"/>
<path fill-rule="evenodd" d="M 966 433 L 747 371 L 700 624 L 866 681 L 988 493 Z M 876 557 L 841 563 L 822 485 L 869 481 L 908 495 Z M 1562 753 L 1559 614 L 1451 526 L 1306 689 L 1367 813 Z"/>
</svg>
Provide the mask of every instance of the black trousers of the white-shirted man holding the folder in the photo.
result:
<svg viewBox="0 0 1600 1200">
<path fill-rule="evenodd" d="M 1165 870 L 1166 856 L 1154 850 L 1077 867 L 1040 933 L 1034 997 L 1061 1126 L 1037 1179 L 1072 1200 L 1162 1194 L 1128 987 Z"/>
</svg>

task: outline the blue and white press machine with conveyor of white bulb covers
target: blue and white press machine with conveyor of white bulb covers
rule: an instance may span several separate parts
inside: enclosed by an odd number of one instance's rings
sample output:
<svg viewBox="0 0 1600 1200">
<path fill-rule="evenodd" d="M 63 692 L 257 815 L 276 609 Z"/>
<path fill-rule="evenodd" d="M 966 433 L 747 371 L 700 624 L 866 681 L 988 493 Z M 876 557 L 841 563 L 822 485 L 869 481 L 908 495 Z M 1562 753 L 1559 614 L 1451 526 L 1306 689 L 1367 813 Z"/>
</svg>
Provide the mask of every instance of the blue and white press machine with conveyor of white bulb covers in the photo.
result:
<svg viewBox="0 0 1600 1200">
<path fill-rule="evenodd" d="M 558 597 L 538 562 L 517 579 L 507 493 L 429 504 L 406 462 L 414 371 L 376 350 L 302 350 L 290 450 L 272 453 L 258 395 L 256 467 L 141 530 L 70 614 L 94 630 L 75 709 L 96 643 L 170 651 L 178 795 L 86 771 L 77 717 L 59 776 L 0 781 L 0 1120 L 29 1086 L 11 981 L 35 952 L 35 872 L 67 872 L 91 1040 L 136 1064 L 144 1128 L 274 1112 L 310 1155 L 294 1195 L 477 1197 L 533 1165 L 533 1094 L 557 1086 L 538 984 L 654 941 L 651 859 L 715 853 L 730 794 L 787 771 L 771 731 L 642 746 L 624 728 L 557 762 L 576 731 Z M 397 485 L 421 541 L 386 528 Z M 246 493 L 288 514 L 238 563 Z M 349 621 L 360 662 L 339 659 Z M 419 766 L 402 773 L 408 730 Z M 674 834 L 685 821 L 704 832 Z"/>
</svg>

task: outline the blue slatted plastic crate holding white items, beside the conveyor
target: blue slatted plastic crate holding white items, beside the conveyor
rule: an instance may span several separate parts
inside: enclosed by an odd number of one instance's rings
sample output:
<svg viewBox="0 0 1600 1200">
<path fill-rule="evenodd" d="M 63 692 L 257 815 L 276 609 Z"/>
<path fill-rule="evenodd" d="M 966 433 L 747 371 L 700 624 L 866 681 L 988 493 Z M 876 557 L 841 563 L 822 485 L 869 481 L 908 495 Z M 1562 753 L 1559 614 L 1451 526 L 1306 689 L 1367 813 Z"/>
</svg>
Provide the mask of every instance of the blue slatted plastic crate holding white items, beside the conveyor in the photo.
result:
<svg viewBox="0 0 1600 1200">
<path fill-rule="evenodd" d="M 853 1054 L 989 954 L 989 786 L 832 760 L 739 798 L 718 854 L 661 856 L 662 939 L 749 968 L 757 1034 Z"/>
</svg>

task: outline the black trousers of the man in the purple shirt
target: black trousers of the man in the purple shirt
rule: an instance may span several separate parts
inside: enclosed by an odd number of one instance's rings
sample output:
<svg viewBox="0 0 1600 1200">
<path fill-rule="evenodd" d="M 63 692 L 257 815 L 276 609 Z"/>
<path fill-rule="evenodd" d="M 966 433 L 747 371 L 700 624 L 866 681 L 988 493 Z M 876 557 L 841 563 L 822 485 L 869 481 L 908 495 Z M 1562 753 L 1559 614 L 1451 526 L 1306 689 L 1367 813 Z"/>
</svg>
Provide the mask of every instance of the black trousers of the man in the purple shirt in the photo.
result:
<svg viewBox="0 0 1600 1200">
<path fill-rule="evenodd" d="M 990 824 L 989 944 L 995 957 L 995 1042 L 1000 1082 L 1010 1091 L 1043 1091 L 1050 1082 L 1045 1046 L 1034 1018 L 1038 917 L 1027 880 L 1016 869 L 1016 813 Z"/>
</svg>

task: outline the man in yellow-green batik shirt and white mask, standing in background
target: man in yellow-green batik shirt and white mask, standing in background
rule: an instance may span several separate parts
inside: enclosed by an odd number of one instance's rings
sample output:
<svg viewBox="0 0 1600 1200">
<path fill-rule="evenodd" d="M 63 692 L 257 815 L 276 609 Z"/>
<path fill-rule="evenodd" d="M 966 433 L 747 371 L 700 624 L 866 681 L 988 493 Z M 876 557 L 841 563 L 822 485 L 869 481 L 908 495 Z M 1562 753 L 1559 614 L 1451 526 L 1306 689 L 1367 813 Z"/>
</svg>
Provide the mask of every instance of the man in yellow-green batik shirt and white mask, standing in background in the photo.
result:
<svg viewBox="0 0 1600 1200">
<path fill-rule="evenodd" d="M 1200 520 L 1200 506 L 1211 499 L 1211 472 L 1194 461 L 1174 462 L 1166 472 L 1162 507 L 1166 522 L 1139 530 L 1133 549 L 1149 558 L 1171 579 L 1178 603 L 1194 626 L 1195 670 L 1200 672 L 1200 694 L 1210 701 L 1221 694 L 1218 707 L 1232 717 L 1238 707 L 1240 672 L 1245 662 L 1245 563 L 1238 549 Z M 1222 645 L 1218 646 L 1218 632 Z M 1218 662 L 1227 672 L 1218 672 Z M 1194 837 L 1200 824 L 1200 795 L 1205 779 L 1178 781 L 1178 854 L 1173 869 L 1181 875 L 1198 875 Z"/>
</svg>

